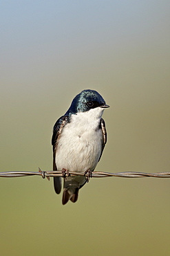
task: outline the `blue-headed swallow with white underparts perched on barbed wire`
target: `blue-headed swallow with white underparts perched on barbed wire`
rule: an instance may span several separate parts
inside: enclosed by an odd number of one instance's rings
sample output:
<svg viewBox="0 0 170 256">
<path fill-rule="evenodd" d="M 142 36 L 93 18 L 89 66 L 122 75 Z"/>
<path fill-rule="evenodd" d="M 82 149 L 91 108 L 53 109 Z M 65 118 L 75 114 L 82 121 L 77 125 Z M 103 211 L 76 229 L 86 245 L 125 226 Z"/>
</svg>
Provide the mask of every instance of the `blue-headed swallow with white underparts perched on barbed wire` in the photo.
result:
<svg viewBox="0 0 170 256">
<path fill-rule="evenodd" d="M 78 191 L 92 177 L 103 154 L 107 131 L 102 115 L 108 107 L 97 91 L 85 89 L 76 95 L 65 115 L 54 124 L 53 170 L 61 171 L 64 177 L 63 205 L 69 200 L 77 201 Z M 69 172 L 84 176 L 70 176 Z M 61 177 L 54 177 L 54 190 L 60 194 Z"/>
</svg>

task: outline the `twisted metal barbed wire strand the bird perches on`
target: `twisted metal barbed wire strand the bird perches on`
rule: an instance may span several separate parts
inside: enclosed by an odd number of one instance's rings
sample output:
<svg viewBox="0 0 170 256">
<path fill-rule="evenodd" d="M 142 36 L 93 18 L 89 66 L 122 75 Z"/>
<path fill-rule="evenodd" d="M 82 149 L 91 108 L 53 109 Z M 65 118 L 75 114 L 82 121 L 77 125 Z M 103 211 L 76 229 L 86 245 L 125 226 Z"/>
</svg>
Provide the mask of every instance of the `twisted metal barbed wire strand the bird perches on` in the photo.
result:
<svg viewBox="0 0 170 256">
<path fill-rule="evenodd" d="M 43 179 L 47 178 L 50 180 L 50 177 L 63 176 L 63 172 L 60 171 L 41 171 L 39 168 L 39 172 L 22 172 L 22 171 L 14 171 L 14 172 L 0 172 L 0 177 L 23 177 L 23 176 L 42 176 Z M 89 174 L 84 174 L 80 172 L 69 172 L 69 174 L 65 174 L 67 176 L 87 176 Z M 170 178 L 170 172 L 158 172 L 155 174 L 149 174 L 146 172 L 92 172 L 93 178 L 105 178 L 105 177 L 121 177 L 121 178 L 142 178 L 142 177 L 154 177 L 154 178 Z"/>
</svg>

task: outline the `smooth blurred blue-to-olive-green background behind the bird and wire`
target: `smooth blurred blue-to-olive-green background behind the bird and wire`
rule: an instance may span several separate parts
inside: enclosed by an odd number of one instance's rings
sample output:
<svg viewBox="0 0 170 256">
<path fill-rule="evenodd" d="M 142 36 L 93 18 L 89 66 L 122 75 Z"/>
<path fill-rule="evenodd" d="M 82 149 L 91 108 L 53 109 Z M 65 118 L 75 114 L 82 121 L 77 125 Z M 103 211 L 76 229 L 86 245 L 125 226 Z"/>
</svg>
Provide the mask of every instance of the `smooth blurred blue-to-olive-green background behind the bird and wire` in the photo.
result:
<svg viewBox="0 0 170 256">
<path fill-rule="evenodd" d="M 1 172 L 52 170 L 74 96 L 109 109 L 96 171 L 169 172 L 169 1 L 1 1 Z M 169 255 L 169 179 L 91 179 L 61 204 L 52 179 L 0 178 L 1 255 Z"/>
</svg>

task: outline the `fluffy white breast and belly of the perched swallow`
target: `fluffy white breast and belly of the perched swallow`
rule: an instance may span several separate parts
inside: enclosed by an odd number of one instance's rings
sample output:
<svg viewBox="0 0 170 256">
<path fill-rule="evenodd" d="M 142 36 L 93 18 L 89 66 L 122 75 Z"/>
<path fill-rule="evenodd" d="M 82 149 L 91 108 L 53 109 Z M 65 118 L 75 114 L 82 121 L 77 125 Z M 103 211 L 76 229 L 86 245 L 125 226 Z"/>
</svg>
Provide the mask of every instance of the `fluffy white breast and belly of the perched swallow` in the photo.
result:
<svg viewBox="0 0 170 256">
<path fill-rule="evenodd" d="M 103 134 L 98 129 L 103 109 L 97 107 L 72 115 L 63 128 L 56 149 L 57 170 L 94 170 L 102 149 Z"/>
</svg>

